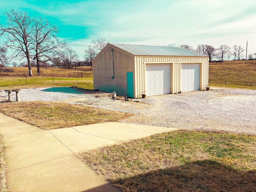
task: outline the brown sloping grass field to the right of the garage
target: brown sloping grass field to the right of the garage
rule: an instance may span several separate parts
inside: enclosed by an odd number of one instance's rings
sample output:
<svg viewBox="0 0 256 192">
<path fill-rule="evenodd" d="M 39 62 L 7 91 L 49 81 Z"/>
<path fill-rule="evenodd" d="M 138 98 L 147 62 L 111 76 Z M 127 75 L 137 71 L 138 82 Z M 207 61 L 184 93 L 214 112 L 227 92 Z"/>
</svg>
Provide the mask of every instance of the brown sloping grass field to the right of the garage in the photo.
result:
<svg viewBox="0 0 256 192">
<path fill-rule="evenodd" d="M 209 63 L 209 83 L 213 86 L 256 89 L 256 60 Z"/>
</svg>

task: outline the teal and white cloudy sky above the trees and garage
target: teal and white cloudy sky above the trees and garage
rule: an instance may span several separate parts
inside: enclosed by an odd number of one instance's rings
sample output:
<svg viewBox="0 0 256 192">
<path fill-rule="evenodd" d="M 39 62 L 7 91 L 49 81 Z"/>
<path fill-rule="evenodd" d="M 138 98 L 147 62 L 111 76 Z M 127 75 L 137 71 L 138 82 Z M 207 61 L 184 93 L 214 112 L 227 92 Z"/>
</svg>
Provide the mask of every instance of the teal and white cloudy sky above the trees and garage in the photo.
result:
<svg viewBox="0 0 256 192">
<path fill-rule="evenodd" d="M 113 43 L 246 49 L 248 40 L 248 53 L 256 53 L 255 0 L 0 0 L 1 24 L 11 9 L 58 25 L 58 37 L 68 44 L 88 46 L 104 37 Z M 72 48 L 82 60 L 86 47 Z"/>
</svg>

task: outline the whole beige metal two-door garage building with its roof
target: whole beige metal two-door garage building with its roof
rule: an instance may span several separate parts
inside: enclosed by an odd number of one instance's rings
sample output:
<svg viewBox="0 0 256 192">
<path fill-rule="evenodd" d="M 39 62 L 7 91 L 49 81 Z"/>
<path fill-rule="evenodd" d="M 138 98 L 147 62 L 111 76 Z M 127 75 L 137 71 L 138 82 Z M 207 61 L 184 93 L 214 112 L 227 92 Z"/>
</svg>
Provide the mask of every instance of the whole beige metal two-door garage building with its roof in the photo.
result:
<svg viewBox="0 0 256 192">
<path fill-rule="evenodd" d="M 94 89 L 130 98 L 204 90 L 208 56 L 169 46 L 108 43 L 92 61 Z"/>
</svg>

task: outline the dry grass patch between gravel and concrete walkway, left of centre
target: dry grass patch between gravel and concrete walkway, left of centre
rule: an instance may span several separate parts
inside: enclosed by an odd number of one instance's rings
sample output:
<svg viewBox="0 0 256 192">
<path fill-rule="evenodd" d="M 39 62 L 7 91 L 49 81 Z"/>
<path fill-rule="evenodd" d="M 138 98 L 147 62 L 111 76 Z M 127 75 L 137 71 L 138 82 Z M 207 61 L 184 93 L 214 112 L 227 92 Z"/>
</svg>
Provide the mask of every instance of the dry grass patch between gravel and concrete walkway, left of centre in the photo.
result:
<svg viewBox="0 0 256 192">
<path fill-rule="evenodd" d="M 60 102 L 4 102 L 0 112 L 49 130 L 104 122 L 116 122 L 131 116 L 82 105 Z"/>
</svg>

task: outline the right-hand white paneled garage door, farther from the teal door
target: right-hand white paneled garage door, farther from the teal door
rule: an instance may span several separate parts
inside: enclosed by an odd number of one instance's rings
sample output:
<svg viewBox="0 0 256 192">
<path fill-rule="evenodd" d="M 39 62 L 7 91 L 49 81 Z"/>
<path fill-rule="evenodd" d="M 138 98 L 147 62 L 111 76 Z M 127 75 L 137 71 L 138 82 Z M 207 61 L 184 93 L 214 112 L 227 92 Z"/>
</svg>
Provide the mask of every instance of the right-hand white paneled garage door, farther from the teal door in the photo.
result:
<svg viewBox="0 0 256 192">
<path fill-rule="evenodd" d="M 200 90 L 200 64 L 181 64 L 180 90 Z"/>
</svg>

